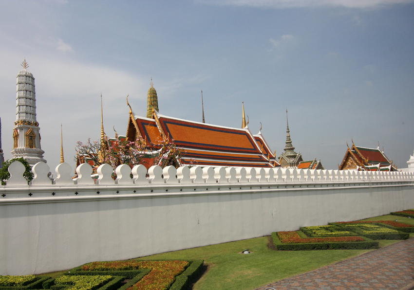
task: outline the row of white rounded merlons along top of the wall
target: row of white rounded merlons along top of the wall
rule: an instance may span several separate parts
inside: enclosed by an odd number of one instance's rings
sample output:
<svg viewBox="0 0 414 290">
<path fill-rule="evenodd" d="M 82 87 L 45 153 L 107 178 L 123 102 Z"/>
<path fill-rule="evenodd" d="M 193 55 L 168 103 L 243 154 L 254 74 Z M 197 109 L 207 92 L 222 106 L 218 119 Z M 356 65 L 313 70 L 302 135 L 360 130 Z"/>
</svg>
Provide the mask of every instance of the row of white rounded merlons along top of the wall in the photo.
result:
<svg viewBox="0 0 414 290">
<path fill-rule="evenodd" d="M 144 165 L 135 165 L 132 170 L 126 164 L 115 168 L 117 179 L 113 180 L 113 168 L 109 164 L 100 165 L 95 181 L 91 174 L 93 168 L 88 163 L 76 168 L 77 178 L 72 179 L 72 168 L 67 163 L 56 166 L 56 179 L 49 178 L 50 168 L 46 163 L 36 163 L 33 185 L 70 184 L 156 184 L 156 183 L 263 183 L 263 182 L 351 182 L 351 181 L 405 181 L 413 180 L 413 172 L 364 172 L 355 170 L 309 170 L 297 168 L 255 168 L 255 167 L 201 167 L 151 166 L 147 171 Z M 14 162 L 9 166 L 11 178 L 7 185 L 27 185 L 23 177 L 24 166 Z M 131 178 L 132 174 L 132 178 Z M 147 175 L 149 178 L 147 178 Z"/>
</svg>

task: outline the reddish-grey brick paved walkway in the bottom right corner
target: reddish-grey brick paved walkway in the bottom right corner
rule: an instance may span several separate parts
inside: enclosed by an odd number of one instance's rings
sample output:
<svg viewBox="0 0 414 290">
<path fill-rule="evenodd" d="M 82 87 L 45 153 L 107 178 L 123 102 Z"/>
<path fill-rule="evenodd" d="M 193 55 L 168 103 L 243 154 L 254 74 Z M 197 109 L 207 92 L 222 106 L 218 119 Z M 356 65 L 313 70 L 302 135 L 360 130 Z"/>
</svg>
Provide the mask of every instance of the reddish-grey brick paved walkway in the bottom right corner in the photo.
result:
<svg viewBox="0 0 414 290">
<path fill-rule="evenodd" d="M 256 290 L 400 290 L 413 289 L 413 282 L 414 238 L 410 238 Z"/>
</svg>

